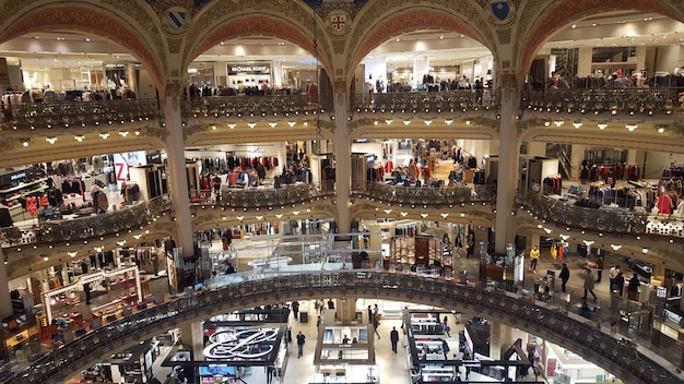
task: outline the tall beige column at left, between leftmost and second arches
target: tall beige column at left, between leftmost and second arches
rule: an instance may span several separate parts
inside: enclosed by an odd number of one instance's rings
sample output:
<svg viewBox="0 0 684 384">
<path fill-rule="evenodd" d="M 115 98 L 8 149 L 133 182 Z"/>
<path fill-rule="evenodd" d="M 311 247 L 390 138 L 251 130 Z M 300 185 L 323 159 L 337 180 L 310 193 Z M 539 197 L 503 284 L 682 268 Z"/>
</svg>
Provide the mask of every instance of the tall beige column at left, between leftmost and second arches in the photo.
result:
<svg viewBox="0 0 684 384">
<path fill-rule="evenodd" d="M 193 253 L 192 216 L 190 214 L 190 194 L 184 154 L 180 89 L 179 82 L 168 83 L 162 108 L 167 133 L 166 154 L 168 156 L 169 192 L 176 217 L 176 245 L 182 248 L 184 256 L 191 256 Z"/>
</svg>

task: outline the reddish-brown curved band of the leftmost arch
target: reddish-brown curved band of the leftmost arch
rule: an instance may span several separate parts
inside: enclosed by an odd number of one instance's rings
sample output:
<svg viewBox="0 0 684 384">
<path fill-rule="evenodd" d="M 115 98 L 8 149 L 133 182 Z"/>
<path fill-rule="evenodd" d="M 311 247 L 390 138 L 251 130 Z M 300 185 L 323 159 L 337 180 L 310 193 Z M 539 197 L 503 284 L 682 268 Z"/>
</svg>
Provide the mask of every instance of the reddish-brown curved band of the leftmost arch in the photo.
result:
<svg viewBox="0 0 684 384">
<path fill-rule="evenodd" d="M 129 49 L 133 57 L 150 70 L 157 84 L 161 84 L 164 65 L 155 57 L 144 33 L 127 22 L 129 19 L 104 8 L 84 7 L 79 2 L 44 4 L 11 19 L 10 24 L 4 26 L 0 34 L 0 41 L 38 31 L 66 29 L 97 34 Z"/>
</svg>

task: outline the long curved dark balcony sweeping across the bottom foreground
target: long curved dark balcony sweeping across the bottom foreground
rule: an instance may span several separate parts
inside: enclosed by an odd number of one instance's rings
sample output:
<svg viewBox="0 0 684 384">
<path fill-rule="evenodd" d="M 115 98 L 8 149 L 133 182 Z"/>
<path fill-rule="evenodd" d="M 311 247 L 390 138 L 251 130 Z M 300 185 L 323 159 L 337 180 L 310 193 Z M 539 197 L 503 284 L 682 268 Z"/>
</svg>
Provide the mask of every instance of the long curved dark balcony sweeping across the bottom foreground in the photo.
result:
<svg viewBox="0 0 684 384">
<path fill-rule="evenodd" d="M 566 346 L 599 363 L 625 383 L 681 383 L 676 375 L 641 352 L 636 345 L 617 339 L 602 332 L 597 323 L 569 315 L 556 307 L 546 307 L 509 292 L 482 290 L 447 280 L 357 269 L 297 272 L 269 275 L 261 279 L 253 275 L 243 275 L 231 285 L 186 295 L 92 331 L 49 352 L 7 380 L 5 384 L 61 382 L 92 367 L 105 356 L 178 327 L 185 322 L 199 321 L 246 307 L 320 296 L 373 297 L 470 310 Z M 671 355 L 676 355 L 672 352 L 670 351 Z"/>
</svg>

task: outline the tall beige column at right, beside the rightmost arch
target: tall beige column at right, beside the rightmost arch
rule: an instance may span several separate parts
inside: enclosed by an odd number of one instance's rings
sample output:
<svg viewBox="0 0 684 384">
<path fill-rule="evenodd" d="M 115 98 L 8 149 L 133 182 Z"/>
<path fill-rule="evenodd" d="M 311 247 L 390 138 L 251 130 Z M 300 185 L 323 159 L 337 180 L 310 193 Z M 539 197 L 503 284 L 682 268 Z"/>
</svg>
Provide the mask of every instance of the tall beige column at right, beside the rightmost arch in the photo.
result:
<svg viewBox="0 0 684 384">
<path fill-rule="evenodd" d="M 515 242 L 516 216 L 511 215 L 516 202 L 518 182 L 518 140 L 516 115 L 520 97 L 516 88 L 515 74 L 502 75 L 499 123 L 499 161 L 496 188 L 496 231 L 494 248 L 496 253 L 506 254 L 506 244 Z"/>
</svg>

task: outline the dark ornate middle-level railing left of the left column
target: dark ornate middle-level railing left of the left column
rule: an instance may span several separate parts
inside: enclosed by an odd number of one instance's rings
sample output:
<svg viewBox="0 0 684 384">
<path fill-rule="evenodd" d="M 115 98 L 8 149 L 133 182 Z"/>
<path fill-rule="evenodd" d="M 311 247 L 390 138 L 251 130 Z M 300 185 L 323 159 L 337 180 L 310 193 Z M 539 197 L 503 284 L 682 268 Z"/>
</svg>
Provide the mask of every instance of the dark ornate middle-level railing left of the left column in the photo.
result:
<svg viewBox="0 0 684 384">
<path fill-rule="evenodd" d="M 90 240 L 146 226 L 170 211 L 168 196 L 161 196 L 119 211 L 66 220 L 48 220 L 31 227 L 2 230 L 2 247 L 48 244 Z"/>
</svg>

